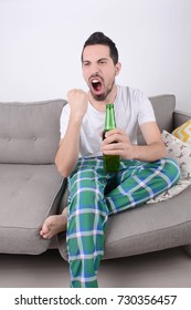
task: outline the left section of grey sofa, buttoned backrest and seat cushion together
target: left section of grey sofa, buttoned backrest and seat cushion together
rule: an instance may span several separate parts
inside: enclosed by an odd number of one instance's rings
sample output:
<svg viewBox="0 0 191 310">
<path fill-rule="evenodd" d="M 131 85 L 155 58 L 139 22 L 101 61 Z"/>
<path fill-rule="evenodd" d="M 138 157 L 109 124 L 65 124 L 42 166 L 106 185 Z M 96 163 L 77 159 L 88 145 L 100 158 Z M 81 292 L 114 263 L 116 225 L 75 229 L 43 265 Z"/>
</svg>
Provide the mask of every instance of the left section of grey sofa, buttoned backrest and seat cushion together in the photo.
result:
<svg viewBox="0 0 191 310">
<path fill-rule="evenodd" d="M 0 252 L 36 255 L 50 246 L 39 230 L 62 196 L 54 157 L 64 103 L 0 103 Z"/>
</svg>

